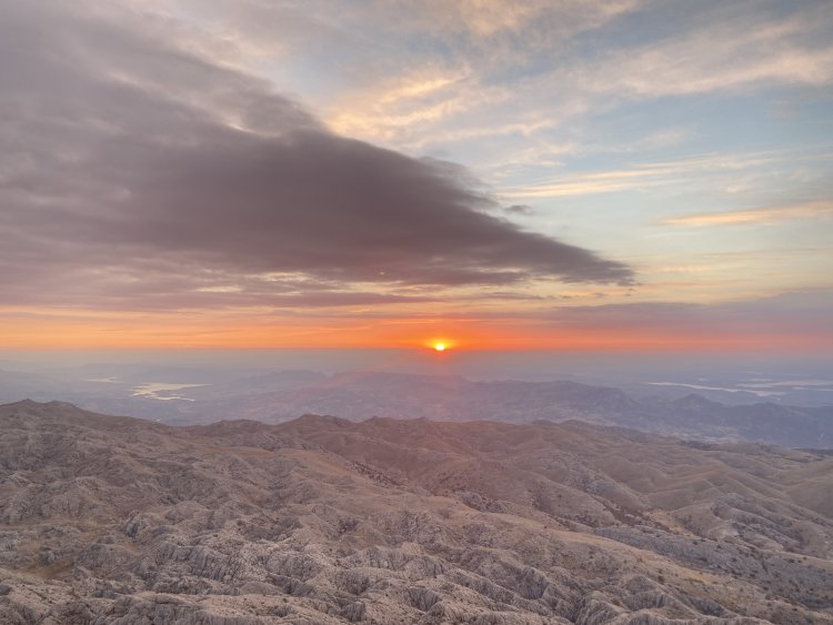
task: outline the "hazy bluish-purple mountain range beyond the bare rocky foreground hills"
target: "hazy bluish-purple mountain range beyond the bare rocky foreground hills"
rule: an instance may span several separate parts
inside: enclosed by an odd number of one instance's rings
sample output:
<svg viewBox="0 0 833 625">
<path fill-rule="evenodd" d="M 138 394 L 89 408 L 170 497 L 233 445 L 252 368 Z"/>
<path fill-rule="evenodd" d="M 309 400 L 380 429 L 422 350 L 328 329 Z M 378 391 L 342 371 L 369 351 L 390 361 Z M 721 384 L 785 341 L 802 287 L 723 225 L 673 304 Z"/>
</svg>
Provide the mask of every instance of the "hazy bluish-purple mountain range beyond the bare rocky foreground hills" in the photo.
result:
<svg viewBox="0 0 833 625">
<path fill-rule="evenodd" d="M 90 371 L 88 375 L 103 375 Z M 130 414 L 172 424 L 251 419 L 279 423 L 302 414 L 348 420 L 370 416 L 435 421 L 489 420 L 529 423 L 581 420 L 697 441 L 751 441 L 789 447 L 833 448 L 833 406 L 800 407 L 771 402 L 726 405 L 699 394 L 634 395 L 578 382 L 473 382 L 459 376 L 308 371 L 259 373 L 184 389 L 134 395 L 139 380 L 182 385 L 207 381 L 204 372 L 141 371 L 132 380 L 89 379 L 63 386 L 38 377 L 7 377 L 0 400 L 67 400 L 84 409 Z M 0 381 L 3 377 L 0 375 Z M 9 380 L 17 381 L 12 387 Z M 73 385 L 74 384 L 74 385 Z M 172 384 L 177 386 L 177 384 Z M 184 399 L 179 399 L 184 397 Z"/>
</svg>

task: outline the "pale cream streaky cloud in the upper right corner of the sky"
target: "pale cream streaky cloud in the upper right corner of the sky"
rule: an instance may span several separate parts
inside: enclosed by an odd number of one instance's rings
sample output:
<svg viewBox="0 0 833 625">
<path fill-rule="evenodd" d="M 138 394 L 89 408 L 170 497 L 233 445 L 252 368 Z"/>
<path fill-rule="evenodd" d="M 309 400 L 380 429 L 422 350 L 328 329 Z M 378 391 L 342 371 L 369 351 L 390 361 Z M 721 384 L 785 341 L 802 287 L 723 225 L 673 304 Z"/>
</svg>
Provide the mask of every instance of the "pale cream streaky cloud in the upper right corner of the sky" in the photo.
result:
<svg viewBox="0 0 833 625">
<path fill-rule="evenodd" d="M 752 8 L 757 10 L 752 10 Z M 591 91 L 635 98 L 685 95 L 771 84 L 829 84 L 833 47 L 826 33 L 833 11 L 825 3 L 739 3 L 695 10 L 695 28 L 606 54 L 588 68 Z"/>
</svg>

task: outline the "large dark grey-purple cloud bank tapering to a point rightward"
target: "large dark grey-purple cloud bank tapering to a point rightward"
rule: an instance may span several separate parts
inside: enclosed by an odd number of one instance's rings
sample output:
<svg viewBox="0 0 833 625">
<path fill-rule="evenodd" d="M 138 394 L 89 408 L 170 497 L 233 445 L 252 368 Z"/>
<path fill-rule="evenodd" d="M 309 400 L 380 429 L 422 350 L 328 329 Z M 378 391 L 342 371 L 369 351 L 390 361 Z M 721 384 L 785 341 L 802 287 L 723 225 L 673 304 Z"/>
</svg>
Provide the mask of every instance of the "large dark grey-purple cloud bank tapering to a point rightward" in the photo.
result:
<svg viewBox="0 0 833 625">
<path fill-rule="evenodd" d="M 96 305 L 268 272 L 305 274 L 318 292 L 632 279 L 493 216 L 459 168 L 332 134 L 268 84 L 174 46 L 164 23 L 0 6 L 7 302 L 50 290 Z M 285 280 L 274 289 L 297 292 Z"/>
</svg>

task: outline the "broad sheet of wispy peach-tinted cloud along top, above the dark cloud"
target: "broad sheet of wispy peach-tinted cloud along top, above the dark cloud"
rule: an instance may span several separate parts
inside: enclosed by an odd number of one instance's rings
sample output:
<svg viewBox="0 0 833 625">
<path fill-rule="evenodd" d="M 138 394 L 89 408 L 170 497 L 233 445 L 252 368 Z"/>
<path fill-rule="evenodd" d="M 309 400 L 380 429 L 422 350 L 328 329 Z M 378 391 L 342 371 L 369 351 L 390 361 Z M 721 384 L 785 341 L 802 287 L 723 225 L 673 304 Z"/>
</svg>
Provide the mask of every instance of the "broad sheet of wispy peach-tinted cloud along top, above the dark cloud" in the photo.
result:
<svg viewBox="0 0 833 625">
<path fill-rule="evenodd" d="M 315 83 L 331 128 L 398 149 L 490 129 L 543 134 L 614 101 L 833 80 L 825 2 L 368 2 L 338 20 L 322 0 L 157 0 L 136 10 L 167 23 L 177 16 L 190 49 L 268 79 L 302 59 L 297 78 Z M 644 37 L 622 37 L 625 17 L 650 27 Z"/>
</svg>

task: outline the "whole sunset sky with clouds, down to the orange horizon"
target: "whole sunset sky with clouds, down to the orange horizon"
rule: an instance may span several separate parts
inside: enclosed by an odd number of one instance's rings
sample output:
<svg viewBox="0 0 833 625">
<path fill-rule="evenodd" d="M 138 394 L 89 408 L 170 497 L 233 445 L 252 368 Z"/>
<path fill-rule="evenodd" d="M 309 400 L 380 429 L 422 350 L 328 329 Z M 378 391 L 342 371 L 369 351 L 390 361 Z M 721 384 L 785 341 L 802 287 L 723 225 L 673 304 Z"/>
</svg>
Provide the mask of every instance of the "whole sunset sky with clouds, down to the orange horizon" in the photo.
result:
<svg viewBox="0 0 833 625">
<path fill-rule="evenodd" d="M 0 350 L 833 349 L 831 2 L 0 11 Z"/>
</svg>

